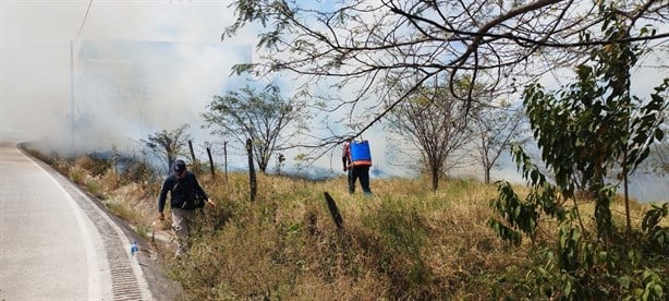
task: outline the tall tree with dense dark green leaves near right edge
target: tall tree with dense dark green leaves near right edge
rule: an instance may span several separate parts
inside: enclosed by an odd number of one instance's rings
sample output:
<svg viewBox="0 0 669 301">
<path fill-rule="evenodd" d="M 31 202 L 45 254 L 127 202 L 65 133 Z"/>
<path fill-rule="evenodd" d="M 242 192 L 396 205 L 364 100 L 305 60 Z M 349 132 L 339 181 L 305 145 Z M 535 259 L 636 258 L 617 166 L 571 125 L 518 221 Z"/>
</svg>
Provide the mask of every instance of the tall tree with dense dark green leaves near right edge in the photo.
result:
<svg viewBox="0 0 669 301">
<path fill-rule="evenodd" d="M 629 36 L 629 28 L 616 14 L 603 29 L 612 39 Z M 642 33 L 643 34 L 643 33 Z M 669 79 L 655 88 L 650 99 L 630 95 L 630 69 L 637 62 L 641 45 L 608 45 L 593 55 L 594 65 L 576 68 L 576 83 L 558 95 L 539 85 L 525 91 L 525 106 L 543 148 L 542 158 L 551 166 L 557 184 L 567 197 L 575 189 L 595 195 L 595 219 L 599 234 L 610 234 L 609 205 L 615 186 L 606 178 L 616 165 L 622 171 L 628 230 L 631 230 L 628 176 L 648 156 L 650 145 L 664 136 L 660 128 L 667 103 L 661 96 Z M 576 178 L 574 179 L 574 176 Z"/>
</svg>

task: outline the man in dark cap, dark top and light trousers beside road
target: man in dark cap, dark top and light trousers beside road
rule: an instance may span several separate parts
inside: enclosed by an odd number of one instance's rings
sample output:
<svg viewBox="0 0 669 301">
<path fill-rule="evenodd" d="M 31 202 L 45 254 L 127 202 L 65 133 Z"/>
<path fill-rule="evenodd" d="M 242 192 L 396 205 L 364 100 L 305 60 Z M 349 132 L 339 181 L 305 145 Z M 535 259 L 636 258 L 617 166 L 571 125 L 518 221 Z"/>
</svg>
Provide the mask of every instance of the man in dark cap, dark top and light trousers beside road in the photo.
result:
<svg viewBox="0 0 669 301">
<path fill-rule="evenodd" d="M 187 250 L 186 239 L 191 224 L 195 219 L 197 208 L 204 207 L 206 200 L 211 206 L 216 206 L 209 198 L 205 190 L 197 182 L 197 178 L 191 171 L 186 170 L 186 162 L 175 160 L 173 165 L 173 173 L 170 174 L 160 189 L 158 196 L 158 219 L 163 220 L 165 201 L 168 192 L 170 193 L 170 210 L 172 212 L 172 228 L 179 240 L 179 249 L 177 256 L 183 254 Z"/>
</svg>

